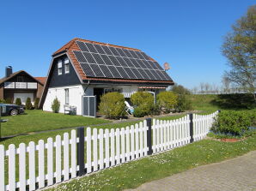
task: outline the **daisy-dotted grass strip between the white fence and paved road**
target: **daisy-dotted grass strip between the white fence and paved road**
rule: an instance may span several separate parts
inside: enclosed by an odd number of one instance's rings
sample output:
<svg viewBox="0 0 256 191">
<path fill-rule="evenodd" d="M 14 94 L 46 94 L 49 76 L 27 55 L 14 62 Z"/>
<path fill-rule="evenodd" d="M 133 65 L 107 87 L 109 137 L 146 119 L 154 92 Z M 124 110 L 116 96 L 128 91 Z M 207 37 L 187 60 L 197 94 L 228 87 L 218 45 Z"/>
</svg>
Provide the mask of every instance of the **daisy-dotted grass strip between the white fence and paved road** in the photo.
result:
<svg viewBox="0 0 256 191">
<path fill-rule="evenodd" d="M 235 143 L 201 140 L 190 145 L 142 158 L 90 176 L 63 183 L 55 190 L 123 190 L 137 188 L 153 181 L 199 165 L 220 162 L 256 149 L 256 135 Z"/>
</svg>

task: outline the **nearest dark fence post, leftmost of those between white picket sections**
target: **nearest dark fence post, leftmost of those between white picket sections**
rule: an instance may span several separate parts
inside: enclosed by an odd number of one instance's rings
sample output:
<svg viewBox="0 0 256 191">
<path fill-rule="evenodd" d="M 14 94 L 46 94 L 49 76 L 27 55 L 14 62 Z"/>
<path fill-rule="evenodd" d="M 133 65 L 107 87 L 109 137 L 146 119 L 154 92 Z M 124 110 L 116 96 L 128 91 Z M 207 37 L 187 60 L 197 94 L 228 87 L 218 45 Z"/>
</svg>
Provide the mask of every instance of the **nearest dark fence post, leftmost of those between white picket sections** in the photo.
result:
<svg viewBox="0 0 256 191">
<path fill-rule="evenodd" d="M 78 176 L 84 175 L 84 127 L 77 128 L 77 164 L 79 165 Z"/>
</svg>

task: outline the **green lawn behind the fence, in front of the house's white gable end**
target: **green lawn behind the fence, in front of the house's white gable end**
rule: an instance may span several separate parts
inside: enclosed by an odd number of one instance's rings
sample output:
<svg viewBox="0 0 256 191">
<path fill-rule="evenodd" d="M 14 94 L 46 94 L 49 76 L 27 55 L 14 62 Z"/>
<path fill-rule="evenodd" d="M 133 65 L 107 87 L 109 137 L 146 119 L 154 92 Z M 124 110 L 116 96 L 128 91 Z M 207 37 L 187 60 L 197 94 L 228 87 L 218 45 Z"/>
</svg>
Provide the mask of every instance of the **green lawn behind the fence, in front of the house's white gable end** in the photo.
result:
<svg viewBox="0 0 256 191">
<path fill-rule="evenodd" d="M 99 118 L 70 116 L 42 110 L 26 110 L 24 115 L 3 116 L 2 118 L 9 120 L 2 123 L 2 136 L 110 122 Z"/>
</svg>

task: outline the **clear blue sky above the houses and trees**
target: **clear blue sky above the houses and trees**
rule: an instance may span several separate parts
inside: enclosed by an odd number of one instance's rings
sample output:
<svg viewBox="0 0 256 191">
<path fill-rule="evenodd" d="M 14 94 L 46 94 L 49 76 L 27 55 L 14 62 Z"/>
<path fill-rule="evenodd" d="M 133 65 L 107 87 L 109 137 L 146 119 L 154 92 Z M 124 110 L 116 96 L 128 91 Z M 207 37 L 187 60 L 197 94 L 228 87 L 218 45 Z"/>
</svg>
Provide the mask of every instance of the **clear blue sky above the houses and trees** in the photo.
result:
<svg viewBox="0 0 256 191">
<path fill-rule="evenodd" d="M 75 37 L 140 49 L 192 88 L 220 85 L 228 69 L 220 47 L 253 0 L 2 1 L 0 76 L 12 65 L 46 76 L 52 53 Z"/>
</svg>

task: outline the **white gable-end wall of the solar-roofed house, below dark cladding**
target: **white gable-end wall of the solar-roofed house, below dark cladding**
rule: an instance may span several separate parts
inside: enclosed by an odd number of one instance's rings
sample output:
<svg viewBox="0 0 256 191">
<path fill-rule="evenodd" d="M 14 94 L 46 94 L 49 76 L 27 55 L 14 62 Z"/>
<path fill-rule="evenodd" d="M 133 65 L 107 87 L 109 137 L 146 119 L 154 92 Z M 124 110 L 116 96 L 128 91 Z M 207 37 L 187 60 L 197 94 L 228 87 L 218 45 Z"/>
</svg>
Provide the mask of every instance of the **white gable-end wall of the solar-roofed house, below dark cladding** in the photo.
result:
<svg viewBox="0 0 256 191">
<path fill-rule="evenodd" d="M 54 98 L 58 98 L 58 101 L 60 102 L 59 112 L 64 113 L 65 89 L 69 89 L 70 106 L 76 106 L 76 115 L 82 115 L 82 85 L 49 88 L 46 95 L 46 101 L 43 105 L 43 110 L 52 111 L 52 102 Z"/>
</svg>

